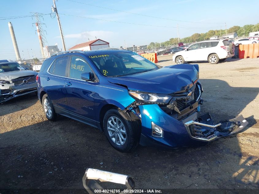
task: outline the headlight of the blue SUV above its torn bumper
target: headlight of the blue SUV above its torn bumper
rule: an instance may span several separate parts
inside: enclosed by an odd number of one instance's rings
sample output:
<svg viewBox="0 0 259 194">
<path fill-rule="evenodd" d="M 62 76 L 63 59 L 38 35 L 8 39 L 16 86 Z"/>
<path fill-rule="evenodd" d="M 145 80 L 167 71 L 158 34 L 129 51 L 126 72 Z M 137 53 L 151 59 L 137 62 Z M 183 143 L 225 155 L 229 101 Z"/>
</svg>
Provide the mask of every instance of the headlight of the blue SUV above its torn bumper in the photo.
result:
<svg viewBox="0 0 259 194">
<path fill-rule="evenodd" d="M 129 91 L 129 94 L 136 100 L 151 104 L 168 104 L 172 99 L 172 97 L 167 94 L 143 93 L 135 91 Z"/>
</svg>

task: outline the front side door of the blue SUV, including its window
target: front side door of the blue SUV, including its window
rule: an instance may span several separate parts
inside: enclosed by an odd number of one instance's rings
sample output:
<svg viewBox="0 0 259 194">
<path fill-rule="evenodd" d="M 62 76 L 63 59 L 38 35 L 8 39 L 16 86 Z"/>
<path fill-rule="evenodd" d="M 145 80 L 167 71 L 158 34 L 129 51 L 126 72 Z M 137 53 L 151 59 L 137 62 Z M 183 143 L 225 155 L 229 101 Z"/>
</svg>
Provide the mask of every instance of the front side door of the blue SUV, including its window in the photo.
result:
<svg viewBox="0 0 259 194">
<path fill-rule="evenodd" d="M 67 106 L 71 117 L 96 126 L 94 109 L 96 82 L 82 80 L 81 74 L 86 72 L 93 72 L 86 60 L 72 55 L 68 78 L 65 82 Z"/>
</svg>

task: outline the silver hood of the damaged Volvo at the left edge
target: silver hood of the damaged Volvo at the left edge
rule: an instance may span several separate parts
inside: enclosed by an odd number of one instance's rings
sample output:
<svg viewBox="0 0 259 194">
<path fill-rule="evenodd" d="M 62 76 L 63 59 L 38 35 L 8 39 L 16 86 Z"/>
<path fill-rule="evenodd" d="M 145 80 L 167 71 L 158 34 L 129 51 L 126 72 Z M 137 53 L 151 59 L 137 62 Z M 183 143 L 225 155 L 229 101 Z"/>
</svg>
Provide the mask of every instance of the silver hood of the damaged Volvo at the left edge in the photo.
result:
<svg viewBox="0 0 259 194">
<path fill-rule="evenodd" d="M 2 72 L 0 73 L 0 80 L 11 81 L 12 79 L 30 76 L 30 75 L 37 75 L 38 73 L 31 70 L 21 70 L 21 71 L 9 71 L 9 72 Z"/>
</svg>

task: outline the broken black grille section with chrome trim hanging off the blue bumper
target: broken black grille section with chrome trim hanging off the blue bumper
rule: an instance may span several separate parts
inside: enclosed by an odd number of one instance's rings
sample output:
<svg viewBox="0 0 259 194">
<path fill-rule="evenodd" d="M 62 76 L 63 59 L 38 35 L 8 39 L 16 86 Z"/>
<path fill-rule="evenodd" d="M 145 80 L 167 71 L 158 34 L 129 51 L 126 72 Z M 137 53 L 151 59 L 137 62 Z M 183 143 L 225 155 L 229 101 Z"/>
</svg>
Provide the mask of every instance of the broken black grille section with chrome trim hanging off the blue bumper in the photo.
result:
<svg viewBox="0 0 259 194">
<path fill-rule="evenodd" d="M 241 131 L 248 124 L 242 116 L 231 120 L 223 120 L 215 124 L 209 113 L 200 116 L 196 121 L 188 121 L 185 124 L 188 134 L 192 139 L 210 142 L 222 136 L 228 136 Z"/>
</svg>

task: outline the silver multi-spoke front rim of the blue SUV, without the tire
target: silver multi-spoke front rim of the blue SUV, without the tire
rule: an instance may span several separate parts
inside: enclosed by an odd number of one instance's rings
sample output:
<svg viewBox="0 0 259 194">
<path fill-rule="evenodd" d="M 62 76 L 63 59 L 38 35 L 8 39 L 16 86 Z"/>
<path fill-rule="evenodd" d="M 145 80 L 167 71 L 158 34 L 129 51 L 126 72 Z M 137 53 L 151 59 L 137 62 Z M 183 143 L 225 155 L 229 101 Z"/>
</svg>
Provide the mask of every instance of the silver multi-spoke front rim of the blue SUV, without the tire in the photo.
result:
<svg viewBox="0 0 259 194">
<path fill-rule="evenodd" d="M 124 124 L 116 116 L 111 116 L 107 121 L 107 131 L 112 141 L 122 146 L 126 142 L 127 133 Z"/>
</svg>

